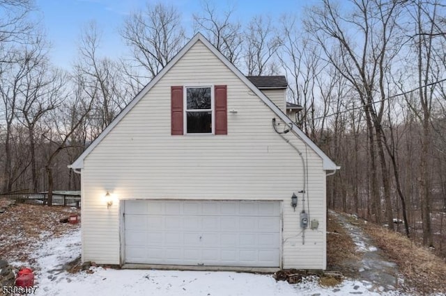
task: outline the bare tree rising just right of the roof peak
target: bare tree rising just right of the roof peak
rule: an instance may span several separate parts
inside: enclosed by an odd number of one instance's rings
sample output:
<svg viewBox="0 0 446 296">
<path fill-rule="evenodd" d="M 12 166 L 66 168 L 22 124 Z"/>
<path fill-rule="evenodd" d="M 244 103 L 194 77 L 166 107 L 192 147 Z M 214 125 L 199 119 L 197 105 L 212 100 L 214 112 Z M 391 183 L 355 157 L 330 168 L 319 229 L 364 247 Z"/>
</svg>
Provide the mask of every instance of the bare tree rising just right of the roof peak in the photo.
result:
<svg viewBox="0 0 446 296">
<path fill-rule="evenodd" d="M 202 3 L 203 12 L 194 14 L 195 31 L 203 30 L 212 43 L 226 58 L 238 65 L 243 48 L 242 25 L 234 21 L 233 7 L 225 11 L 217 11 L 213 3 L 206 0 Z"/>
</svg>

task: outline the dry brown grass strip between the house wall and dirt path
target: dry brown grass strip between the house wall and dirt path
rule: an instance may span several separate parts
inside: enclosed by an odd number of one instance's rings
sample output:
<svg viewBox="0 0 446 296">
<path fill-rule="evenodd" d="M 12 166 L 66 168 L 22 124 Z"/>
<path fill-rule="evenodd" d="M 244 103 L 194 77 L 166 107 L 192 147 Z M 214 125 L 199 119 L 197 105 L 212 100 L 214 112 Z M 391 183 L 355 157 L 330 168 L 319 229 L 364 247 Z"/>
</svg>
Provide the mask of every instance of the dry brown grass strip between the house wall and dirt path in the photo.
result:
<svg viewBox="0 0 446 296">
<path fill-rule="evenodd" d="M 328 213 L 327 225 L 327 269 L 337 270 L 348 277 L 352 274 L 352 270 L 345 263 L 347 261 L 357 261 L 355 243 L 348 235 L 346 229 L 342 227 L 337 218 Z"/>
</svg>

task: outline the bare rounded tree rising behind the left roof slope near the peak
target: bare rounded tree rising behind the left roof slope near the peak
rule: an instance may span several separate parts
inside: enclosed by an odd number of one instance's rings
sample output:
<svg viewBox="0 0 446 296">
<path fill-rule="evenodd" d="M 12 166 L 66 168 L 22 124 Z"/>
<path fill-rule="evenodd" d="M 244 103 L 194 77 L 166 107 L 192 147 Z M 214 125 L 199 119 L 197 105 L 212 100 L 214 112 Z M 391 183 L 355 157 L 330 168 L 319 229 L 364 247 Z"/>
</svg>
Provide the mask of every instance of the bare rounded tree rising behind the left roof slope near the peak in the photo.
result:
<svg viewBox="0 0 446 296">
<path fill-rule="evenodd" d="M 133 51 L 137 65 L 148 71 L 146 83 L 174 58 L 185 44 L 181 16 L 174 6 L 147 4 L 125 18 L 121 36 Z M 144 83 L 145 84 L 145 83 Z"/>
</svg>

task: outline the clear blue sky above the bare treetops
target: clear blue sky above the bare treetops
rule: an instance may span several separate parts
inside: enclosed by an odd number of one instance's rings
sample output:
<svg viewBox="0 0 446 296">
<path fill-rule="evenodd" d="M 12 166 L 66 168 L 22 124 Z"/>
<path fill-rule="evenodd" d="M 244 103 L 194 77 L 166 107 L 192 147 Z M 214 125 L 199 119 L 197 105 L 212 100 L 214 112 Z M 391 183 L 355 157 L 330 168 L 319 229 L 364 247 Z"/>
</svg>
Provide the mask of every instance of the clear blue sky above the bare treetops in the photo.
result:
<svg viewBox="0 0 446 296">
<path fill-rule="evenodd" d="M 201 11 L 199 0 L 166 0 L 182 13 L 183 22 L 192 34 L 192 14 Z M 52 44 L 53 62 L 68 68 L 77 56 L 77 40 L 82 26 L 92 20 L 102 31 L 102 47 L 100 52 L 105 56 L 117 57 L 127 50 L 118 30 L 123 19 L 134 10 L 144 8 L 146 3 L 157 3 L 151 0 L 36 0 L 38 14 L 41 15 L 47 38 Z M 278 19 L 283 13 L 295 13 L 300 16 L 302 8 L 316 3 L 316 0 L 243 0 L 214 1 L 217 8 L 235 6 L 234 16 L 241 22 L 254 15 L 270 15 Z"/>
</svg>

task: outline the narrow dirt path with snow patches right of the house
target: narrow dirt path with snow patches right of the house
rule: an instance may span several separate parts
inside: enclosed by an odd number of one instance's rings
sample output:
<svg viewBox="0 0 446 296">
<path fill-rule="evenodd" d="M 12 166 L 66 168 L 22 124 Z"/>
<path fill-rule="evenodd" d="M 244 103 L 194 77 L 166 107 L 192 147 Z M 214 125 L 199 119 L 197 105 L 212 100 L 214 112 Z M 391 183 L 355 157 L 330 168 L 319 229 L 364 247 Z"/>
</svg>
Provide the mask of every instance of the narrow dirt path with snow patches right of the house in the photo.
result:
<svg viewBox="0 0 446 296">
<path fill-rule="evenodd" d="M 330 211 L 346 229 L 356 245 L 359 261 L 348 260 L 344 262 L 348 268 L 355 270 L 358 280 L 364 283 L 371 292 L 383 293 L 401 288 L 401 277 L 398 275 L 397 264 L 390 262 L 380 249 L 374 247 L 371 238 L 360 227 L 354 225 L 347 217 Z"/>
</svg>

